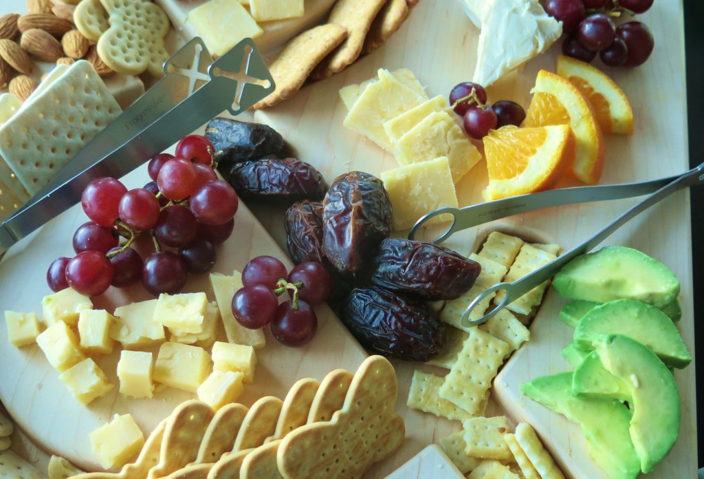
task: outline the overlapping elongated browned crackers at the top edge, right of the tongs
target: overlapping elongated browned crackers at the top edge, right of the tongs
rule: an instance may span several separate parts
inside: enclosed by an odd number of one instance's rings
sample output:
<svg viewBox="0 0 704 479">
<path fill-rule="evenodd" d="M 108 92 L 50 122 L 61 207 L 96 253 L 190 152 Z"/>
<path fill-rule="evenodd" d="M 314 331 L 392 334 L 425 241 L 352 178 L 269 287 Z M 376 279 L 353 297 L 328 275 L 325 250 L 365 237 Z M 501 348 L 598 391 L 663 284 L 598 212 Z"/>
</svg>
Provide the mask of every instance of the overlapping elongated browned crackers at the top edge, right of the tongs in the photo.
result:
<svg viewBox="0 0 704 479">
<path fill-rule="evenodd" d="M 253 106 L 274 106 L 298 92 L 306 80 L 339 73 L 362 54 L 382 46 L 419 0 L 338 0 L 325 25 L 292 39 L 269 70 L 276 90 Z"/>
</svg>

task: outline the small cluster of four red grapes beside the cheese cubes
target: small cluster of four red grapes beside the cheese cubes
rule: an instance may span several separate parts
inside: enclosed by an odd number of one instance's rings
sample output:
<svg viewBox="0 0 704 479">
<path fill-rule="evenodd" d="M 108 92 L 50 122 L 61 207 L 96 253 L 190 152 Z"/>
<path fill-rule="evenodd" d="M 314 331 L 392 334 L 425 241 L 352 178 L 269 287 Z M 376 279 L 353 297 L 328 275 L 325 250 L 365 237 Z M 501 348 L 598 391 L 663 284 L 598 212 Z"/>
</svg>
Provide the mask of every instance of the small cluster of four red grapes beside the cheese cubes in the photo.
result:
<svg viewBox="0 0 704 479">
<path fill-rule="evenodd" d="M 242 270 L 242 287 L 232 297 L 232 314 L 245 328 L 271 325 L 274 337 L 290 347 L 301 347 L 313 339 L 318 318 L 313 306 L 327 301 L 330 275 L 313 261 L 291 271 L 273 256 L 257 256 Z M 279 304 L 279 296 L 291 299 Z"/>
</svg>

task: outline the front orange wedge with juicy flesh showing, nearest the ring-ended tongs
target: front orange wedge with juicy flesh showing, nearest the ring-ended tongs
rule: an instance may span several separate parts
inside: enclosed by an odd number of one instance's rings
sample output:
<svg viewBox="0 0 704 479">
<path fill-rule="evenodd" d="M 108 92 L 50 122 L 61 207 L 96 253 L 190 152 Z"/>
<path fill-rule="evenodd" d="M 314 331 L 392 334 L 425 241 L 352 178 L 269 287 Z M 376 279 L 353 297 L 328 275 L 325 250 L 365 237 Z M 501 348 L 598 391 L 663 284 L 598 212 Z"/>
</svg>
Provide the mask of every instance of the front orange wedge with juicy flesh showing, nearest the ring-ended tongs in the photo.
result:
<svg viewBox="0 0 704 479">
<path fill-rule="evenodd" d="M 484 137 L 489 168 L 486 201 L 548 189 L 574 161 L 569 125 L 503 127 Z"/>
</svg>

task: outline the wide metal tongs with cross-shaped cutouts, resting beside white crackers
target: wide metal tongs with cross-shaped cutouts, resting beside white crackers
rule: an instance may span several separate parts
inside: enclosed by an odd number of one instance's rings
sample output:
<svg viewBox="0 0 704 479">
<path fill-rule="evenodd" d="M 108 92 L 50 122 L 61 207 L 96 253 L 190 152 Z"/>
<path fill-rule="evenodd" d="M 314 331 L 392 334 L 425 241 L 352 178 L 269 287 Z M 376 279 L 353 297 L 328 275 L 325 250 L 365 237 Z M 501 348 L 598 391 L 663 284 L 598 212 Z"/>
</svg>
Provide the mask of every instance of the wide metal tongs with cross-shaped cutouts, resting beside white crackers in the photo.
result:
<svg viewBox="0 0 704 479">
<path fill-rule="evenodd" d="M 164 64 L 165 76 L 92 139 L 0 224 L 0 254 L 77 204 L 94 178 L 120 178 L 222 111 L 246 111 L 275 89 L 251 39 L 213 61 L 194 38 Z"/>
</svg>

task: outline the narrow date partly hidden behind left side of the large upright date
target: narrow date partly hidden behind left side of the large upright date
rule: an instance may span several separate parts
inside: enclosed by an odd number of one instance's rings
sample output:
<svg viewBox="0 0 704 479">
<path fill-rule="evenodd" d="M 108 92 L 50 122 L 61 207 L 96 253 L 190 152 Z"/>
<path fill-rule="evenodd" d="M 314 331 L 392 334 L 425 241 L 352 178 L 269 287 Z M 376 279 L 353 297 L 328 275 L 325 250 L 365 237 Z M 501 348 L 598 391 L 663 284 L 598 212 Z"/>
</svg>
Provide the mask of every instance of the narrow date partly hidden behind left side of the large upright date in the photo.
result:
<svg viewBox="0 0 704 479">
<path fill-rule="evenodd" d="M 284 218 L 286 244 L 294 263 L 317 261 L 323 263 L 322 203 L 298 201 L 286 211 Z"/>
</svg>

